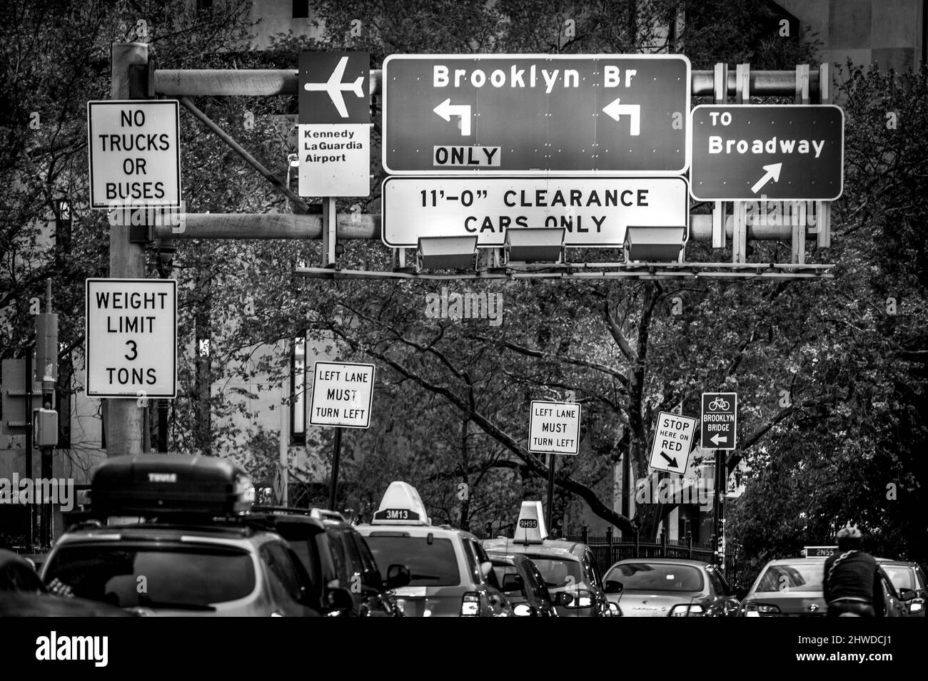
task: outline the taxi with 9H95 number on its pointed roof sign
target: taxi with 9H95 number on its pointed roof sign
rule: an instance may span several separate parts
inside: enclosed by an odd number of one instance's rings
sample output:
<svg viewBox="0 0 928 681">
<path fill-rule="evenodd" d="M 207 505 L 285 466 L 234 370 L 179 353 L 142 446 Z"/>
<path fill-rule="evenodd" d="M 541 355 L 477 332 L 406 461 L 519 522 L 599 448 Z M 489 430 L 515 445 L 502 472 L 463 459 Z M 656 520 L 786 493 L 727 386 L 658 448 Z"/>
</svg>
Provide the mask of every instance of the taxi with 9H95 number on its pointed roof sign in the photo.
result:
<svg viewBox="0 0 928 681">
<path fill-rule="evenodd" d="M 535 563 L 560 617 L 610 617 L 593 552 L 581 542 L 548 539 L 541 501 L 522 502 L 513 538 L 484 539 L 483 549 Z"/>
</svg>

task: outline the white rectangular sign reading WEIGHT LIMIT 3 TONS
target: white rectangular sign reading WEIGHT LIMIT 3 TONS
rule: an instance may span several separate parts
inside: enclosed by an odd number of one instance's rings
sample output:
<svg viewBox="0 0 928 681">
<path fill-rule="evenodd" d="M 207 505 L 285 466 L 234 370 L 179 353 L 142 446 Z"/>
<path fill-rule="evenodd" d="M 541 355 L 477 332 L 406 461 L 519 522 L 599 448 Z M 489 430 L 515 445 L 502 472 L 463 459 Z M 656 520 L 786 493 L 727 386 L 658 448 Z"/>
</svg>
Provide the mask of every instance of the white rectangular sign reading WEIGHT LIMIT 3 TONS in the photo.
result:
<svg viewBox="0 0 928 681">
<path fill-rule="evenodd" d="M 87 397 L 174 397 L 177 283 L 87 279 Z"/>
</svg>

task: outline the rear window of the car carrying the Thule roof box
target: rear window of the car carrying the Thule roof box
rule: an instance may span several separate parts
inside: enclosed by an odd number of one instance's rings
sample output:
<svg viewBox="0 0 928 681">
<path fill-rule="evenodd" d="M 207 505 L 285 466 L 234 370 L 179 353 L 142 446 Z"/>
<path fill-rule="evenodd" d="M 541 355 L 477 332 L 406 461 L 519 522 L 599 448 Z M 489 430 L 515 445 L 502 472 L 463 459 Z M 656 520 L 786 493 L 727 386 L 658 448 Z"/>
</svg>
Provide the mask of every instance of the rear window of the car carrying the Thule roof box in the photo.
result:
<svg viewBox="0 0 928 681">
<path fill-rule="evenodd" d="M 63 546 L 45 572 L 46 585 L 55 580 L 73 596 L 122 608 L 208 608 L 255 586 L 248 551 L 195 544 Z"/>
</svg>

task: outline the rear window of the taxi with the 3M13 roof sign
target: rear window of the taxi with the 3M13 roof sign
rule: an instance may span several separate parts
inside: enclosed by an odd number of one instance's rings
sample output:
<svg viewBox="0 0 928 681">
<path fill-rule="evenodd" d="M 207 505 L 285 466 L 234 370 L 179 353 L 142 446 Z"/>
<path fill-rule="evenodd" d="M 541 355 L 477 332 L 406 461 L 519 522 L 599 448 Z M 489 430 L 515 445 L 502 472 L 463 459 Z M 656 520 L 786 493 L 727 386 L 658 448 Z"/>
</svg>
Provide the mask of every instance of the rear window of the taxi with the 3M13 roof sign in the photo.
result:
<svg viewBox="0 0 928 681">
<path fill-rule="evenodd" d="M 461 583 L 458 557 L 450 539 L 425 536 L 369 535 L 367 546 L 380 574 L 391 565 L 409 568 L 409 586 L 457 586 Z"/>
</svg>

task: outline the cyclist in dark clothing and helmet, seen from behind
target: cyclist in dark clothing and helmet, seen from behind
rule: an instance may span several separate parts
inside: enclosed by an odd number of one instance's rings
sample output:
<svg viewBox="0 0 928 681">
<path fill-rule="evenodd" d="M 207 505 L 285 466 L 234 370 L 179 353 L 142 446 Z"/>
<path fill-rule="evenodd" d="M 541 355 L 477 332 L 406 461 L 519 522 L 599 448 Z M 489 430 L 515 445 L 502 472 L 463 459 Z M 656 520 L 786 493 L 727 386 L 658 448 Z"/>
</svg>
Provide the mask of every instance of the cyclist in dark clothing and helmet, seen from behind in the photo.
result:
<svg viewBox="0 0 928 681">
<path fill-rule="evenodd" d="M 838 550 L 825 561 L 823 591 L 828 616 L 883 617 L 886 604 L 879 567 L 869 553 L 860 550 L 860 530 L 843 527 L 837 540 Z"/>
</svg>

